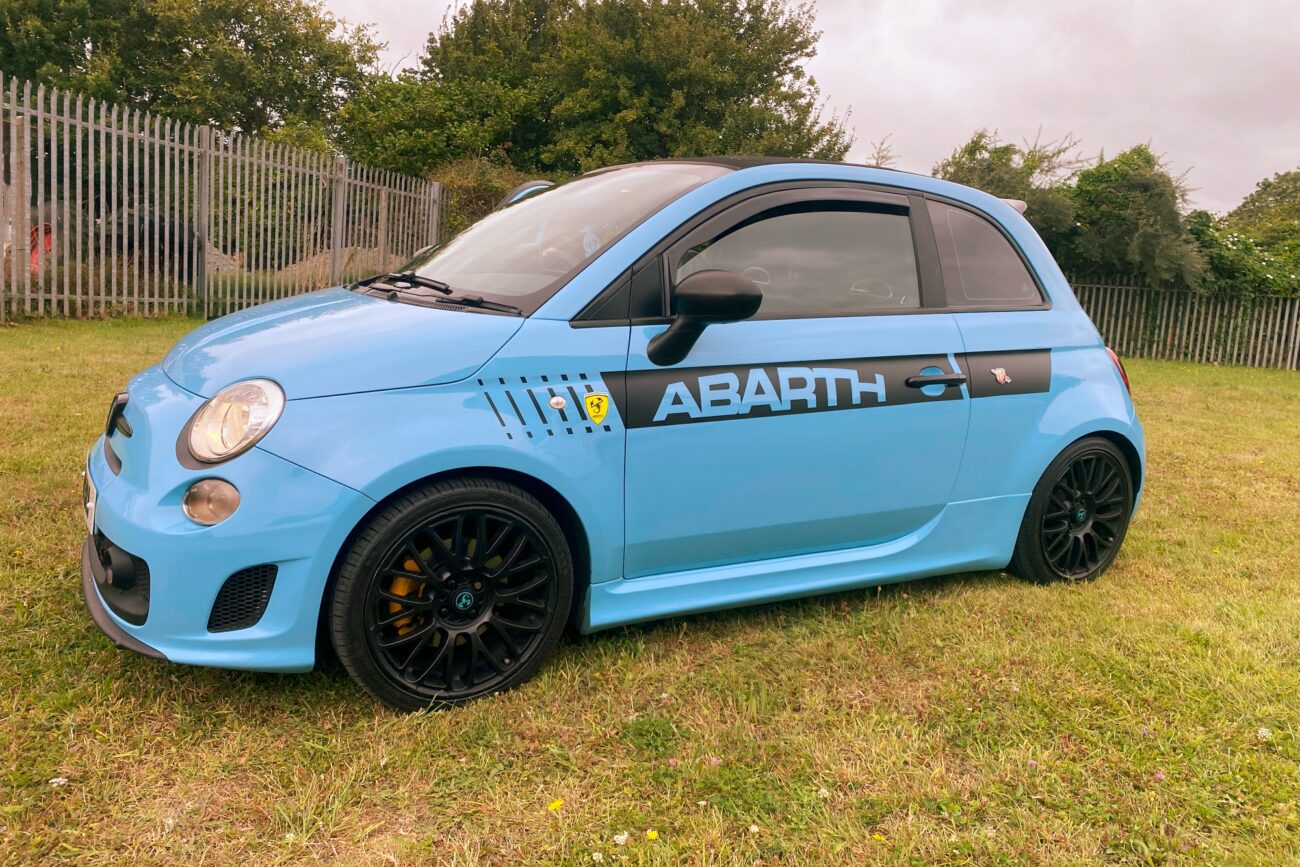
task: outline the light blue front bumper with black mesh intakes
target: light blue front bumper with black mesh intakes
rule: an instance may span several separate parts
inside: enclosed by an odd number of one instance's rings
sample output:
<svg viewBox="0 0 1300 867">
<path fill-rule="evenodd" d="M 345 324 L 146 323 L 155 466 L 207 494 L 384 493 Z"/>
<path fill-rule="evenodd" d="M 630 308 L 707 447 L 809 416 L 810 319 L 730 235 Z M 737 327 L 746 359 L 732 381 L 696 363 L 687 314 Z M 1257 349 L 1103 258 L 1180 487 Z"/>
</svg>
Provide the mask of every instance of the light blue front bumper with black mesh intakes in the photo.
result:
<svg viewBox="0 0 1300 867">
<path fill-rule="evenodd" d="M 334 558 L 373 500 L 256 447 L 225 464 L 183 467 L 177 437 L 203 399 L 157 368 L 133 380 L 130 394 L 133 435 L 113 433 L 109 441 L 120 464 L 110 465 L 103 439 L 87 461 L 95 506 L 82 549 L 82 591 L 91 619 L 118 647 L 170 662 L 309 671 Z M 238 487 L 240 504 L 225 521 L 200 526 L 185 516 L 181 498 L 212 477 Z M 96 534 L 101 545 L 110 539 L 147 563 L 147 611 L 135 623 L 105 603 Z M 273 565 L 276 577 L 256 623 L 212 630 L 226 580 L 263 565 Z"/>
</svg>

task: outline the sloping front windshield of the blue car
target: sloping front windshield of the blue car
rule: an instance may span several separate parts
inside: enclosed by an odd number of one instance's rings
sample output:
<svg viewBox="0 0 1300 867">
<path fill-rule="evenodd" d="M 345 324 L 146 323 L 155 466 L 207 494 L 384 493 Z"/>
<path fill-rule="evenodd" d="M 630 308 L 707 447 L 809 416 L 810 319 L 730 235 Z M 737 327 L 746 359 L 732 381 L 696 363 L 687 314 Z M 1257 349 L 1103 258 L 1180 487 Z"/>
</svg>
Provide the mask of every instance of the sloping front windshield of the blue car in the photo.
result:
<svg viewBox="0 0 1300 867">
<path fill-rule="evenodd" d="M 656 162 L 584 175 L 484 217 L 403 270 L 532 312 L 629 229 L 728 172 Z"/>
</svg>

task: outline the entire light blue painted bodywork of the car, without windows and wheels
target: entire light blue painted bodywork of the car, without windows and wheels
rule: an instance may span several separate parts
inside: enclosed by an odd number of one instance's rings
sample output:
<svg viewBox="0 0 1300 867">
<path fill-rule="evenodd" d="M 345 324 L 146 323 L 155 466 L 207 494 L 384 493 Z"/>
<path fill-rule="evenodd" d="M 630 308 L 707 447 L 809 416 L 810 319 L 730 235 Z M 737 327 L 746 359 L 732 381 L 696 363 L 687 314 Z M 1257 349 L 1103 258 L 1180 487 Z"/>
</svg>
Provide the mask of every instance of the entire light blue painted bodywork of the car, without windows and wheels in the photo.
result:
<svg viewBox="0 0 1300 867">
<path fill-rule="evenodd" d="M 1045 303 L 714 325 L 671 367 L 646 355 L 666 321 L 572 324 L 698 214 L 792 183 L 861 183 L 974 208 L 1011 238 Z M 823 390 L 815 411 L 809 403 L 807 412 L 766 416 L 727 399 L 702 403 L 701 377 L 720 376 L 711 382 L 725 396 L 727 374 L 738 389 L 741 376 L 779 380 L 790 368 L 852 368 L 864 377 L 859 386 L 879 372 L 888 396 L 829 407 Z M 970 382 L 926 396 L 900 386 L 933 370 Z M 178 439 L 204 399 L 248 378 L 285 390 L 280 421 L 226 463 L 186 460 Z M 642 404 L 675 382 L 701 417 L 654 424 L 658 409 Z M 1002 568 L 1034 485 L 1070 442 L 1118 438 L 1136 455 L 1139 481 L 1144 460 L 1115 365 L 1018 212 L 944 181 L 822 162 L 758 165 L 702 183 L 606 247 L 526 318 L 324 290 L 204 325 L 135 377 L 129 395 L 133 434 L 110 432 L 108 443 L 120 471 L 100 441 L 87 473 L 98 528 L 150 563 L 156 589 L 143 625 L 109 616 L 170 660 L 264 671 L 312 666 L 322 594 L 348 536 L 432 477 L 486 472 L 563 500 L 582 549 L 575 620 L 594 630 Z M 599 421 L 589 395 L 607 398 Z M 179 504 L 209 476 L 234 484 L 242 502 L 202 528 Z M 263 619 L 207 632 L 225 577 L 260 563 L 280 569 Z"/>
</svg>

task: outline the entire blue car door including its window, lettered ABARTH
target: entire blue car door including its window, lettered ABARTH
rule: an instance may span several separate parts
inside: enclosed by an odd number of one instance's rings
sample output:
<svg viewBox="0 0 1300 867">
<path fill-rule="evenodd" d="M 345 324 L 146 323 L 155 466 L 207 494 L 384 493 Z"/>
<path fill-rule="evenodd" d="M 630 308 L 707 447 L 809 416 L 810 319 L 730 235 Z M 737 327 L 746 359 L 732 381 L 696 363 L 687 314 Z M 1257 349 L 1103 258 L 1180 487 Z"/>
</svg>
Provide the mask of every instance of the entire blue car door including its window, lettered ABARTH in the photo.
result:
<svg viewBox="0 0 1300 867">
<path fill-rule="evenodd" d="M 616 395 L 627 577 L 880 545 L 939 515 L 968 400 L 928 224 L 911 218 L 923 207 L 861 188 L 762 192 L 662 251 L 670 311 L 702 269 L 749 277 L 763 302 L 670 367 L 646 352 L 664 326 L 632 328 Z"/>
</svg>

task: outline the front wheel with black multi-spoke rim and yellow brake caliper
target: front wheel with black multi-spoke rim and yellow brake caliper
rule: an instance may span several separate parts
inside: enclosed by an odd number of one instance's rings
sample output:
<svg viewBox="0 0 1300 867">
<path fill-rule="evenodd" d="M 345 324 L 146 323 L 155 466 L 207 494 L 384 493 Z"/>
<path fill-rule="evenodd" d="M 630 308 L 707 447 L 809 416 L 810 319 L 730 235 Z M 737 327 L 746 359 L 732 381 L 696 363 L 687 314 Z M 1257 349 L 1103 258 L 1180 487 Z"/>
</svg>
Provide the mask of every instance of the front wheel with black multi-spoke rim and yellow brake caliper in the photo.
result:
<svg viewBox="0 0 1300 867">
<path fill-rule="evenodd" d="M 532 677 L 572 599 L 573 559 L 541 502 L 494 480 L 442 481 L 398 498 L 356 537 L 330 634 L 365 692 L 415 711 Z"/>
</svg>

